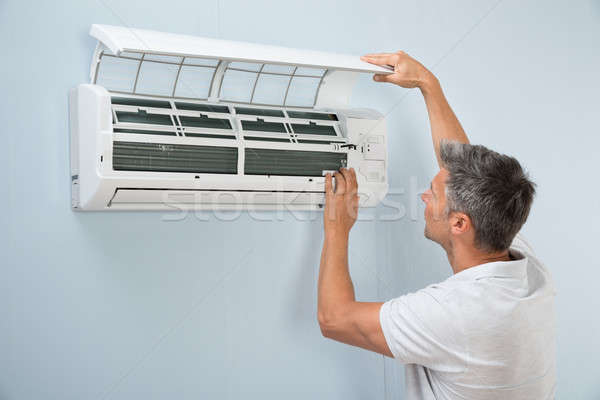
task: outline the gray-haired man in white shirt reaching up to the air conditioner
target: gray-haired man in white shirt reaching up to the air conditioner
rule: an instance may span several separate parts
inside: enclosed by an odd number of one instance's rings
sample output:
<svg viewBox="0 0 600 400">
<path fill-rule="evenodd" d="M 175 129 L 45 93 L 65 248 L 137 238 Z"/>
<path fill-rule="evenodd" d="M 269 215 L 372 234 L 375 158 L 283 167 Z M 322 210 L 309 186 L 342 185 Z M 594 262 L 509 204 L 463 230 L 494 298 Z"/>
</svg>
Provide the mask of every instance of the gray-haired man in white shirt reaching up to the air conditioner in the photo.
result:
<svg viewBox="0 0 600 400">
<path fill-rule="evenodd" d="M 386 303 L 357 302 L 348 236 L 355 172 L 326 177 L 318 320 L 324 336 L 406 364 L 410 399 L 548 399 L 555 392 L 554 288 L 518 232 L 534 185 L 512 157 L 469 144 L 435 76 L 403 52 L 364 61 L 394 67 L 379 82 L 419 88 L 440 166 L 423 193 L 425 237 L 454 272 Z"/>
</svg>

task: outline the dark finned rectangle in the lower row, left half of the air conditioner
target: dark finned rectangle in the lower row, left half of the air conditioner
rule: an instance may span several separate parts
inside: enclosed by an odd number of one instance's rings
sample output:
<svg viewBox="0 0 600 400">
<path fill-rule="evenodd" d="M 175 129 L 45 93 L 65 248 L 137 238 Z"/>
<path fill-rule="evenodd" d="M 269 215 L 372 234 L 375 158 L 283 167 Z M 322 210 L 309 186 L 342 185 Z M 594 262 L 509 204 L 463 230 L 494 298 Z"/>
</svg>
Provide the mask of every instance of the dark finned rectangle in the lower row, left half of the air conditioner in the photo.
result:
<svg viewBox="0 0 600 400">
<path fill-rule="evenodd" d="M 237 147 L 113 142 L 113 169 L 237 174 Z"/>
</svg>

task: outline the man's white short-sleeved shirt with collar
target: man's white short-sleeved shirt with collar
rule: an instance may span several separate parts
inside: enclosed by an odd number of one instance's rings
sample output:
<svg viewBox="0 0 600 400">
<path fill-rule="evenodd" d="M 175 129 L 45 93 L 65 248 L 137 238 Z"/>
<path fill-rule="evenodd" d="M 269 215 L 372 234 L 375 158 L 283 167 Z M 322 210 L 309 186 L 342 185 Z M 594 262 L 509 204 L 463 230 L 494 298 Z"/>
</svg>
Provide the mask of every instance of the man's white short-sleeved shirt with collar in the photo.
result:
<svg viewBox="0 0 600 400">
<path fill-rule="evenodd" d="M 520 235 L 510 252 L 383 304 L 407 399 L 554 398 L 554 286 Z"/>
</svg>

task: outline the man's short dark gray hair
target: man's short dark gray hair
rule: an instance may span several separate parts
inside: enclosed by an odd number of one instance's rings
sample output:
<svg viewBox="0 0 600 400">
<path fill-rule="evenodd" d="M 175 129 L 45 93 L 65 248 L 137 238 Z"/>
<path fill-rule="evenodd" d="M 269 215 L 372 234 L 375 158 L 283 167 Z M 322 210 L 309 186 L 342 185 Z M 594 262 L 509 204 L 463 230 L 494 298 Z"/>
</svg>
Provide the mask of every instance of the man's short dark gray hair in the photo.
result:
<svg viewBox="0 0 600 400">
<path fill-rule="evenodd" d="M 484 146 L 445 140 L 440 159 L 449 172 L 447 212 L 471 218 L 478 248 L 508 249 L 527 220 L 535 195 L 535 184 L 519 162 Z"/>
</svg>

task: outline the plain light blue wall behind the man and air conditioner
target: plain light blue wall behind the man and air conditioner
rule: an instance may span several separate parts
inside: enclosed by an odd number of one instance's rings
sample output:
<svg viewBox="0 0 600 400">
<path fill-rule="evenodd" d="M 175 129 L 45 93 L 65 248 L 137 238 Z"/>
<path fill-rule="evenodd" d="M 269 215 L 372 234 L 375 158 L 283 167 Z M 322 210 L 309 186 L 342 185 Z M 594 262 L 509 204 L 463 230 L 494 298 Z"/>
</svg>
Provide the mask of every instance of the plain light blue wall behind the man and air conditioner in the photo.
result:
<svg viewBox="0 0 600 400">
<path fill-rule="evenodd" d="M 558 291 L 557 397 L 600 396 L 598 0 L 5 0 L 0 398 L 402 391 L 393 361 L 320 336 L 319 216 L 169 222 L 70 210 L 67 91 L 88 79 L 91 23 L 422 60 L 472 141 L 517 156 L 537 181 L 524 231 Z M 394 198 L 404 218 L 359 222 L 351 238 L 359 298 L 384 300 L 449 275 L 422 236 L 422 207 L 410 206 L 411 182 L 425 187 L 435 164 L 417 92 L 365 78 L 353 104 L 389 112 L 390 183 L 405 190 Z"/>
</svg>

